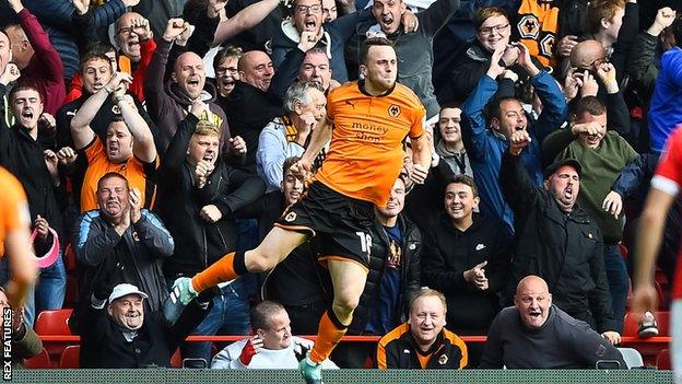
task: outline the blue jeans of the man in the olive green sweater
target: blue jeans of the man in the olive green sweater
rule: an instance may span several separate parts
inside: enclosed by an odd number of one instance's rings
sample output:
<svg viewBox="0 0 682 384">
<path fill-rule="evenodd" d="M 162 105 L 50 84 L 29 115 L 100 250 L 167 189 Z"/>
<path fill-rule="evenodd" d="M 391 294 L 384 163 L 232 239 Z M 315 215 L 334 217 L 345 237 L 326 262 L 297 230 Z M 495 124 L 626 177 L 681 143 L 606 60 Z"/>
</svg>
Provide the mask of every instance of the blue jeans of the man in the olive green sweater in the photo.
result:
<svg viewBox="0 0 682 384">
<path fill-rule="evenodd" d="M 630 277 L 627 276 L 627 268 L 618 244 L 604 244 L 604 268 L 607 270 L 607 279 L 609 279 L 609 290 L 611 291 L 613 317 L 616 324 L 615 330 L 622 334 Z"/>
</svg>

